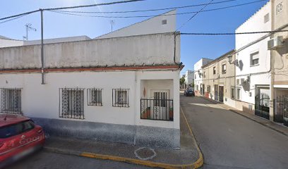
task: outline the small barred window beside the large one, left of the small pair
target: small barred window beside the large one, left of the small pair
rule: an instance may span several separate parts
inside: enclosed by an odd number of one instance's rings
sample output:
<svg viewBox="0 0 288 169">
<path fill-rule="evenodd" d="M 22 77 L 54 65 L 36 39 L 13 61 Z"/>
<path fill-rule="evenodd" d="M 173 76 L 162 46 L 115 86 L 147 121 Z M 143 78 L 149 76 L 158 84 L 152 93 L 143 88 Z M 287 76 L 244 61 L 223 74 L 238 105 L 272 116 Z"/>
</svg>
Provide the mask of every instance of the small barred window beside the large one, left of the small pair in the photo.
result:
<svg viewBox="0 0 288 169">
<path fill-rule="evenodd" d="M 87 89 L 88 106 L 103 106 L 102 89 Z"/>
</svg>

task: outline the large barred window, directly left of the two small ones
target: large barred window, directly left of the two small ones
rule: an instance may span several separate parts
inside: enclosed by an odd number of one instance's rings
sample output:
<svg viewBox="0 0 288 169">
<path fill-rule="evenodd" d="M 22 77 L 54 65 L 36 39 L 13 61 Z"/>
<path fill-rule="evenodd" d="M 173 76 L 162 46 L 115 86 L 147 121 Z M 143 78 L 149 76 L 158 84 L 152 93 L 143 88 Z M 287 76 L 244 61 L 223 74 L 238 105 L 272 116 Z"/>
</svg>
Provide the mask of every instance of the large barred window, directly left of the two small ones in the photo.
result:
<svg viewBox="0 0 288 169">
<path fill-rule="evenodd" d="M 59 117 L 84 119 L 84 89 L 59 89 Z"/>
</svg>

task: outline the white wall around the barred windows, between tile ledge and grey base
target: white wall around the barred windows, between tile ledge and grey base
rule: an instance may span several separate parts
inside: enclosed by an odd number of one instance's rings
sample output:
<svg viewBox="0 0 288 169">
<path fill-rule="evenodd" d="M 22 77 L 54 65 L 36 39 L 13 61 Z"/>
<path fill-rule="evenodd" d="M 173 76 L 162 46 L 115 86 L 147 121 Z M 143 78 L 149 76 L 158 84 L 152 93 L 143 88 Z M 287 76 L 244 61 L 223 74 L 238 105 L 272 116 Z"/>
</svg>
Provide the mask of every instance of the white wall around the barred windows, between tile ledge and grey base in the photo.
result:
<svg viewBox="0 0 288 169">
<path fill-rule="evenodd" d="M 174 121 L 140 120 L 141 80 L 156 80 L 147 89 L 171 90 Z M 88 106 L 85 90 L 85 119 L 81 121 L 179 129 L 179 70 L 47 73 L 47 84 L 40 81 L 41 74 L 37 73 L 0 74 L 0 88 L 21 88 L 22 111 L 29 117 L 76 120 L 59 118 L 59 88 L 95 87 L 102 89 L 103 106 Z M 130 107 L 112 106 L 112 89 L 119 88 L 129 89 Z"/>
</svg>

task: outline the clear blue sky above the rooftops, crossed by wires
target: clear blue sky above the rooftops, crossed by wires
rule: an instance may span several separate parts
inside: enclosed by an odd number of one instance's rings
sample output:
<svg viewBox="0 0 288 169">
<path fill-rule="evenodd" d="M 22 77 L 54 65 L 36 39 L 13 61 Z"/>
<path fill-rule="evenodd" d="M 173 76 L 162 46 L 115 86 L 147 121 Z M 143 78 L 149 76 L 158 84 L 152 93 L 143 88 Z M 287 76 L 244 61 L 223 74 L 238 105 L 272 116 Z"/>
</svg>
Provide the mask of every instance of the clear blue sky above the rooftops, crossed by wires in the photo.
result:
<svg viewBox="0 0 288 169">
<path fill-rule="evenodd" d="M 109 0 L 117 1 L 117 0 Z M 187 6 L 193 4 L 208 3 L 210 0 L 147 0 L 143 2 L 134 2 L 130 4 L 117 4 L 112 6 L 100 6 L 92 8 L 74 9 L 74 11 L 131 11 L 145 10 L 152 8 L 168 8 L 173 6 Z M 223 1 L 223 0 L 215 0 Z M 224 6 L 232 6 L 235 4 L 244 4 L 256 0 L 237 0 L 224 4 L 213 4 L 205 9 L 220 8 Z M 268 1 L 268 0 L 267 0 Z M 244 23 L 253 13 L 263 6 L 267 1 L 261 1 L 256 4 L 239 6 L 236 8 L 227 8 L 220 11 L 210 11 L 199 13 L 189 23 L 181 28 L 181 32 L 234 32 L 234 30 Z M 11 0 L 0 1 L 0 18 L 17 13 L 37 10 L 39 8 L 53 8 L 61 6 L 78 6 L 88 4 L 99 4 L 108 2 L 104 0 Z M 202 8 L 181 8 L 177 13 L 189 11 L 198 11 Z M 169 10 L 167 10 L 169 11 Z M 117 15 L 158 15 L 166 11 L 152 11 L 148 13 L 123 13 Z M 100 14 L 111 15 L 111 14 Z M 177 15 L 177 25 L 180 27 L 185 23 L 192 14 Z M 114 18 L 114 29 L 126 27 L 133 23 L 140 22 L 146 18 Z M 111 18 L 90 18 L 72 15 L 64 15 L 60 13 L 44 12 L 44 38 L 69 37 L 87 35 L 88 37 L 97 37 L 110 32 Z M 13 20 L 11 22 L 0 24 L 0 35 L 11 37 L 13 39 L 23 39 L 25 35 L 26 23 L 32 23 L 32 27 L 37 32 L 29 32 L 29 39 L 40 39 L 40 13 L 32 13 L 23 18 Z M 222 54 L 234 49 L 234 36 L 181 36 L 181 61 L 185 68 L 181 71 L 184 73 L 187 69 L 193 70 L 193 65 L 200 58 L 217 58 Z"/>
</svg>

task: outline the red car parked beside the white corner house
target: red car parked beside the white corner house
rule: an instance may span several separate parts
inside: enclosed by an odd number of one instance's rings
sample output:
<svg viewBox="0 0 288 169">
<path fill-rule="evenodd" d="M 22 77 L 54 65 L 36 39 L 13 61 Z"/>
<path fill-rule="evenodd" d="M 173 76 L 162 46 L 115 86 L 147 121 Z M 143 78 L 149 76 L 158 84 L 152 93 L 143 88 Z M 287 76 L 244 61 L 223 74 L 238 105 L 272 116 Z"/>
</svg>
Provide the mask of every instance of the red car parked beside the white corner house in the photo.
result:
<svg viewBox="0 0 288 169">
<path fill-rule="evenodd" d="M 30 118 L 0 114 L 0 168 L 42 148 L 44 131 Z"/>
</svg>

